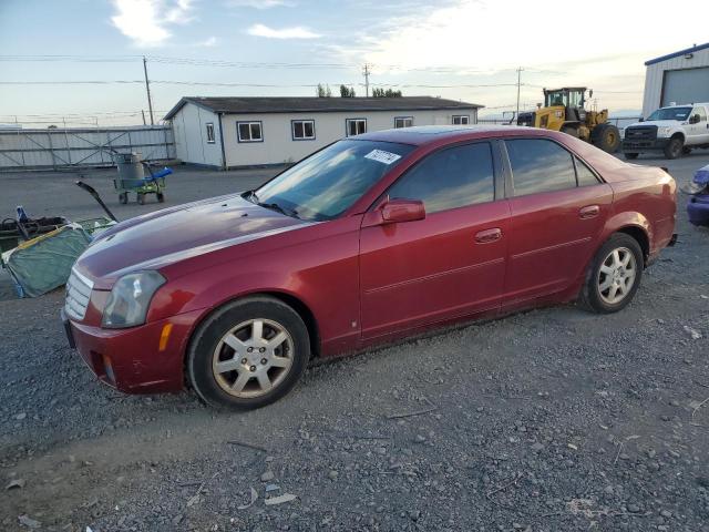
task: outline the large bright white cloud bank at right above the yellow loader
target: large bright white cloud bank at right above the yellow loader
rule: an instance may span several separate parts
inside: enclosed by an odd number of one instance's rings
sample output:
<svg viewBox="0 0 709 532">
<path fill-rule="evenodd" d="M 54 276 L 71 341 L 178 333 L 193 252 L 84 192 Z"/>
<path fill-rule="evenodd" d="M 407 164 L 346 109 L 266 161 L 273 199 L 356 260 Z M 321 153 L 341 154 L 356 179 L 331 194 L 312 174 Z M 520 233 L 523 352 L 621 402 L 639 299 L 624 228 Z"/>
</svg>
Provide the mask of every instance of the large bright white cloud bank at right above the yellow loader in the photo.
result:
<svg viewBox="0 0 709 532">
<path fill-rule="evenodd" d="M 508 84 L 516 82 L 515 70 L 523 66 L 525 102 L 538 101 L 541 86 L 579 84 L 594 88 L 599 105 L 613 111 L 641 100 L 644 61 L 687 45 L 687 28 L 681 24 L 666 24 L 648 40 L 647 29 L 656 27 L 660 17 L 659 8 L 650 8 L 654 4 L 637 9 L 635 2 L 595 0 L 594 12 L 612 13 L 609 20 L 633 23 L 607 27 L 590 38 L 569 41 L 558 32 L 544 30 L 549 17 L 559 17 L 557 4 L 551 0 L 449 0 L 432 2 L 428 9 L 400 10 L 402 14 L 382 17 L 381 22 L 362 28 L 357 39 L 336 37 L 327 44 L 339 61 L 373 63 L 374 82 Z M 692 4 L 692 18 L 709 17 L 709 2 Z M 436 73 L 435 68 L 450 72 Z M 422 70 L 413 73 L 412 69 Z M 516 88 L 507 86 L 404 90 L 408 94 L 431 91 L 491 106 L 516 99 Z"/>
</svg>

